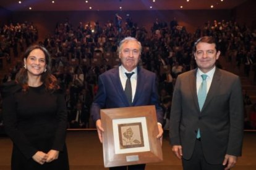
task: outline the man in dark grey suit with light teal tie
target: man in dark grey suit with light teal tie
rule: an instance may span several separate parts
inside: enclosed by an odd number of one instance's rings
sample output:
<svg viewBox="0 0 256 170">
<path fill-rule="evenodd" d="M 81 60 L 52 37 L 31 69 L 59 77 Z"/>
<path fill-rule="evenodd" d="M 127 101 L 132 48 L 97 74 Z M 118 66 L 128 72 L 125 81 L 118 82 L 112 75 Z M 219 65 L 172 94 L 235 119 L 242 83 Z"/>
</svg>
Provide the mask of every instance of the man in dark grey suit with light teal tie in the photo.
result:
<svg viewBox="0 0 256 170">
<path fill-rule="evenodd" d="M 241 82 L 215 67 L 220 51 L 214 38 L 198 39 L 194 56 L 198 68 L 179 75 L 174 88 L 169 124 L 173 152 L 184 169 L 230 169 L 242 150 Z M 202 96 L 205 100 L 198 101 Z"/>
</svg>

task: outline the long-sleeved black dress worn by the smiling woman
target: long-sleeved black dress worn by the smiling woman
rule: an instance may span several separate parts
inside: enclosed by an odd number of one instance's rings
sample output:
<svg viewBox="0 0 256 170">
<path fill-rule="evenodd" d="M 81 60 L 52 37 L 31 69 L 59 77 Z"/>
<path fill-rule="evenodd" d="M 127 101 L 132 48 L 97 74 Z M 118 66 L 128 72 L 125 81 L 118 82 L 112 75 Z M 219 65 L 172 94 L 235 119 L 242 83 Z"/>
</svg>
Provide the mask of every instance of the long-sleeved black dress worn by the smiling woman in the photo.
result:
<svg viewBox="0 0 256 170">
<path fill-rule="evenodd" d="M 14 144 L 12 169 L 69 169 L 64 95 L 46 91 L 44 84 L 23 92 L 14 82 L 4 84 L 1 91 L 4 127 Z M 41 165 L 32 159 L 36 152 L 49 150 L 59 150 L 58 160 Z"/>
</svg>

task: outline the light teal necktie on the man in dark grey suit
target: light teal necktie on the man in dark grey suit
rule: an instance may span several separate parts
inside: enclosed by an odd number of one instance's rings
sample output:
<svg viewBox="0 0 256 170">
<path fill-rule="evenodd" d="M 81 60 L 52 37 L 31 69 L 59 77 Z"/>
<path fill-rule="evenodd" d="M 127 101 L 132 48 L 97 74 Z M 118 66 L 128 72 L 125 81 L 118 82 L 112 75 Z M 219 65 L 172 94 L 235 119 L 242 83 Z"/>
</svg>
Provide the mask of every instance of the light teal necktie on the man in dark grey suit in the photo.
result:
<svg viewBox="0 0 256 170">
<path fill-rule="evenodd" d="M 203 81 L 201 83 L 201 86 L 198 89 L 198 94 L 197 94 L 200 111 L 202 110 L 203 104 L 205 103 L 205 99 L 207 97 L 207 81 L 206 81 L 207 75 L 201 75 L 201 76 L 202 76 Z M 201 137 L 200 136 L 200 129 L 198 129 L 197 139 L 199 139 L 200 137 Z"/>
</svg>

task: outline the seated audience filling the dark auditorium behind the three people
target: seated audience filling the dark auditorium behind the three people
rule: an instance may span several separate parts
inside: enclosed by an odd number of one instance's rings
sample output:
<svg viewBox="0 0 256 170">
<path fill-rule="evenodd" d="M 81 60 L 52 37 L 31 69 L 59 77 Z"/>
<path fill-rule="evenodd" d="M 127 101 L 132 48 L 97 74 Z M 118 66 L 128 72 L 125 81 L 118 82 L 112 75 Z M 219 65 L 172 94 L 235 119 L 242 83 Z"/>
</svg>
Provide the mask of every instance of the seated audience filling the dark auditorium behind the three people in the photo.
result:
<svg viewBox="0 0 256 170">
<path fill-rule="evenodd" d="M 27 47 L 38 40 L 38 30 L 33 23 L 4 25 L 0 33 L 0 55 L 10 55 L 8 50 L 12 47 L 14 56 L 18 56 L 18 51 L 23 52 L 24 44 Z M 200 36 L 214 36 L 220 42 L 223 57 L 227 57 L 229 62 L 236 62 L 239 69 L 242 66 L 245 75 L 249 76 L 250 67 L 256 65 L 256 33 L 246 25 L 232 21 L 206 22 L 202 29 L 189 33 L 176 18 L 169 25 L 156 19 L 150 31 L 133 23 L 130 16 L 122 27 L 111 20 L 104 25 L 98 21 L 93 24 L 80 22 L 75 27 L 66 20 L 58 23 L 54 33 L 39 43 L 51 52 L 51 71 L 66 92 L 69 128 L 95 127 L 90 120 L 90 105 L 97 92 L 98 76 L 118 65 L 117 46 L 126 36 L 135 37 L 142 43 L 140 65 L 158 76 L 165 129 L 168 129 L 171 114 L 175 79 L 184 71 L 195 68 L 192 46 Z M 10 68 L 2 83 L 14 79 L 20 67 L 23 67 L 22 62 Z M 77 116 L 78 112 L 81 116 Z M 251 116 L 245 117 L 250 119 Z M 250 124 L 249 120 L 248 128 L 256 129 L 252 121 Z"/>
</svg>

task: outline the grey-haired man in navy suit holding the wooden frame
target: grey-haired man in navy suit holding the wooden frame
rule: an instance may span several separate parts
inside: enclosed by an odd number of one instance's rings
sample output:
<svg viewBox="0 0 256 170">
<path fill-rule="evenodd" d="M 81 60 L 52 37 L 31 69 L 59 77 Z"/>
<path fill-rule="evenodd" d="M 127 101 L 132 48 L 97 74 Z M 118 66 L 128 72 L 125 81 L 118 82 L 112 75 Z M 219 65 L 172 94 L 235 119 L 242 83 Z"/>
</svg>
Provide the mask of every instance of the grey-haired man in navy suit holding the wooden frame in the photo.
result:
<svg viewBox="0 0 256 170">
<path fill-rule="evenodd" d="M 162 139 L 163 112 L 158 102 L 158 90 L 156 86 L 156 75 L 138 66 L 142 46 L 135 38 L 127 37 L 120 42 L 119 59 L 121 65 L 117 68 L 106 71 L 98 78 L 98 92 L 92 103 L 91 114 L 98 131 L 98 137 L 102 142 L 100 109 L 119 108 L 142 105 L 155 105 L 158 119 L 159 134 L 157 138 Z M 130 84 L 132 95 L 126 96 L 126 73 L 132 73 Z M 111 169 L 126 169 L 126 166 Z M 145 169 L 145 164 L 129 166 L 129 169 Z"/>
</svg>

